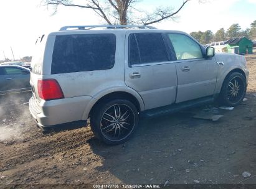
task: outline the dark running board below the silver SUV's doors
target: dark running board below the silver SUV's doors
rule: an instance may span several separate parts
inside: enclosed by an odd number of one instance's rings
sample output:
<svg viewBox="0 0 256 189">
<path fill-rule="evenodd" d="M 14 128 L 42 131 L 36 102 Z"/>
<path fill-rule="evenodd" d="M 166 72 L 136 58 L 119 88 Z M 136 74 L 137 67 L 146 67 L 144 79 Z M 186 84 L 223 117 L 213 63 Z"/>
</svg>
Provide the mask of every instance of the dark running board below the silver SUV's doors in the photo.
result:
<svg viewBox="0 0 256 189">
<path fill-rule="evenodd" d="M 214 102 L 214 98 L 212 96 L 208 96 L 204 98 L 194 99 L 191 101 L 186 101 L 183 103 L 171 104 L 171 105 L 163 106 L 160 108 L 148 109 L 141 112 L 141 114 L 142 116 L 146 116 L 146 117 L 153 117 L 153 116 L 160 116 L 160 115 L 162 116 L 166 114 L 176 113 L 183 109 L 202 106 L 202 105 L 213 103 L 213 102 Z"/>
</svg>

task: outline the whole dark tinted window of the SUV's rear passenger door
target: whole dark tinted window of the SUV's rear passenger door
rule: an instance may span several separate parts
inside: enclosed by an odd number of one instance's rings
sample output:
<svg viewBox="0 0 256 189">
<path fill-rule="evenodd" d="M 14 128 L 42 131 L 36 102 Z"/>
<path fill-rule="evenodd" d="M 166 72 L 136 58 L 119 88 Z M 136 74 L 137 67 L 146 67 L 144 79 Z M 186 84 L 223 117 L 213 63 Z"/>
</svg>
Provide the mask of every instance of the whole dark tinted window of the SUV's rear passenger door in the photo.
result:
<svg viewBox="0 0 256 189">
<path fill-rule="evenodd" d="M 130 64 L 169 61 L 162 34 L 131 34 L 129 37 Z M 139 62 L 140 61 L 140 62 Z"/>
</svg>

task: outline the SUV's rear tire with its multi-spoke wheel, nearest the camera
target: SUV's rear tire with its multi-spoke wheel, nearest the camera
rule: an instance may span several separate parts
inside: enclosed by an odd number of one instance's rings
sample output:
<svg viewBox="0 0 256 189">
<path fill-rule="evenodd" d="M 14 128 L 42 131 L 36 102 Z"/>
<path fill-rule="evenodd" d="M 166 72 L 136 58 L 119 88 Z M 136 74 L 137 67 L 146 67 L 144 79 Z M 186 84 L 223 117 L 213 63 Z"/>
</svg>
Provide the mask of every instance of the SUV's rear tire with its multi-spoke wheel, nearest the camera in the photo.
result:
<svg viewBox="0 0 256 189">
<path fill-rule="evenodd" d="M 126 99 L 113 99 L 93 109 L 90 125 L 98 139 L 116 145 L 130 139 L 138 122 L 138 110 L 133 103 Z"/>
</svg>

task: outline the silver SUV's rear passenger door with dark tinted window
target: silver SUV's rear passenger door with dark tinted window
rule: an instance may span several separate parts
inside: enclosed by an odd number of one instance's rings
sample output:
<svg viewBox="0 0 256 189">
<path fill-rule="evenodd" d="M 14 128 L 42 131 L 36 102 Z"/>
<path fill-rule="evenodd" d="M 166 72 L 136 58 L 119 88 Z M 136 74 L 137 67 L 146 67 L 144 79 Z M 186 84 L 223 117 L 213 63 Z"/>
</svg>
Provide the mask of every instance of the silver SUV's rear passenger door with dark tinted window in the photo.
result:
<svg viewBox="0 0 256 189">
<path fill-rule="evenodd" d="M 145 109 L 175 102 L 177 76 L 161 33 L 126 33 L 125 83 L 136 90 Z"/>
</svg>

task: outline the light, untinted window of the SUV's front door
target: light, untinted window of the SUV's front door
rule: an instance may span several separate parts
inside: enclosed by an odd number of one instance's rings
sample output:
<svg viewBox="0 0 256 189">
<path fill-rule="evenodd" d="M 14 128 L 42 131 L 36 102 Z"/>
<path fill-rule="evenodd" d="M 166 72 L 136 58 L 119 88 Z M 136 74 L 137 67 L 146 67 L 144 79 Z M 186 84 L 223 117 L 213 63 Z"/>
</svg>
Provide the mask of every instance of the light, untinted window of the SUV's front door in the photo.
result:
<svg viewBox="0 0 256 189">
<path fill-rule="evenodd" d="M 173 44 L 177 60 L 202 58 L 202 51 L 194 40 L 183 34 L 168 34 Z"/>
</svg>

